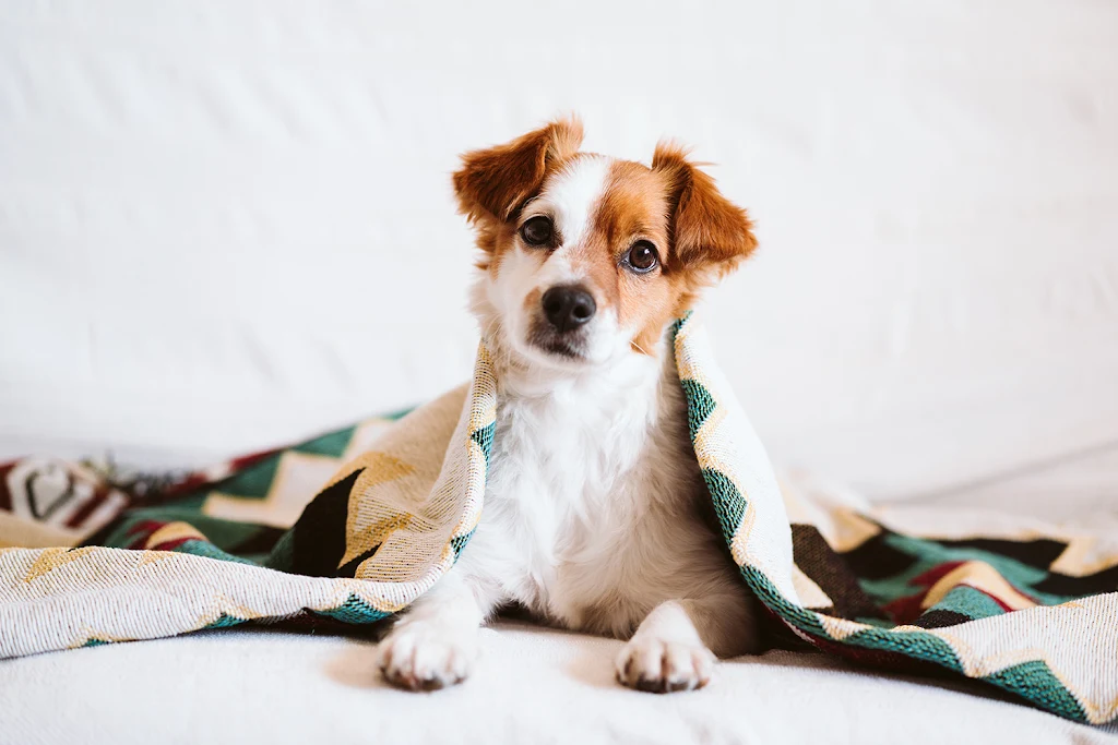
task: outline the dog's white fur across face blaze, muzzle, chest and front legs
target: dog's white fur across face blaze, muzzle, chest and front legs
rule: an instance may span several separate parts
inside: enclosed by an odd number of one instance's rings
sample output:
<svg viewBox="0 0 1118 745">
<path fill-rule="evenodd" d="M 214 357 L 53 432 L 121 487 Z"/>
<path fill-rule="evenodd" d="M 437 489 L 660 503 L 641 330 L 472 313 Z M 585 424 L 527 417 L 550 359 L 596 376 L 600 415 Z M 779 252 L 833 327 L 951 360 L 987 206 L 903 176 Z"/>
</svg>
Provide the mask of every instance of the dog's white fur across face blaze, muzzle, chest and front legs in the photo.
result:
<svg viewBox="0 0 1118 745">
<path fill-rule="evenodd" d="M 553 360 L 527 337 L 532 290 L 577 281 L 567 257 L 588 227 L 606 159 L 553 178 L 522 219 L 552 214 L 563 245 L 518 246 L 475 312 L 498 365 L 499 402 L 481 523 L 454 569 L 381 643 L 386 677 L 436 688 L 468 675 L 476 629 L 518 604 L 569 629 L 631 638 L 623 684 L 702 686 L 713 652 L 756 648 L 752 599 L 702 519 L 709 500 L 691 449 L 669 346 L 632 351 L 633 331 L 599 313 L 584 360 Z"/>
</svg>

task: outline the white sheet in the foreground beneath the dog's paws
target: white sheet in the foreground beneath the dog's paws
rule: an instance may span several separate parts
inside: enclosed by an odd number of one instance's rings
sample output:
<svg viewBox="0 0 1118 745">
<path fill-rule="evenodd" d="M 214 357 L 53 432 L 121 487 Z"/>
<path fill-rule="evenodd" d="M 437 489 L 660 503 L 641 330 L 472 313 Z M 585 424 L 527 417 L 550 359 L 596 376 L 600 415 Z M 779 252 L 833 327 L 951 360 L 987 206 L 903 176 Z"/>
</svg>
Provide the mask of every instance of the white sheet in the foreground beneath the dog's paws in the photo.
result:
<svg viewBox="0 0 1118 745">
<path fill-rule="evenodd" d="M 691 694 L 613 680 L 620 642 L 502 622 L 467 682 L 385 687 L 372 644 L 276 631 L 42 655 L 0 663 L 0 743 L 1114 743 L 969 682 L 770 652 Z"/>
</svg>

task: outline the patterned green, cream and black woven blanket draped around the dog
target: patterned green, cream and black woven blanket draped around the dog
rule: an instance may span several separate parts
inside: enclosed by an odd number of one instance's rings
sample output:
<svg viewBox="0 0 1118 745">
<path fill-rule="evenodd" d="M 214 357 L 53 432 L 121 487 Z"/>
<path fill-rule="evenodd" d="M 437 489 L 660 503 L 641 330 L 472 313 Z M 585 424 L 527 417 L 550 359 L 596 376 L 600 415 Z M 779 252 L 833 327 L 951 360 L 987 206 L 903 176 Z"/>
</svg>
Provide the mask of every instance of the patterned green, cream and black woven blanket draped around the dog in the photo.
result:
<svg viewBox="0 0 1118 745">
<path fill-rule="evenodd" d="M 789 639 L 979 679 L 1078 722 L 1118 718 L 1118 536 L 890 518 L 781 490 L 702 329 L 681 319 L 671 338 L 730 553 Z M 0 657 L 383 619 L 468 551 L 495 412 L 483 345 L 470 385 L 406 417 L 207 471 L 125 483 L 48 459 L 0 466 Z"/>
</svg>

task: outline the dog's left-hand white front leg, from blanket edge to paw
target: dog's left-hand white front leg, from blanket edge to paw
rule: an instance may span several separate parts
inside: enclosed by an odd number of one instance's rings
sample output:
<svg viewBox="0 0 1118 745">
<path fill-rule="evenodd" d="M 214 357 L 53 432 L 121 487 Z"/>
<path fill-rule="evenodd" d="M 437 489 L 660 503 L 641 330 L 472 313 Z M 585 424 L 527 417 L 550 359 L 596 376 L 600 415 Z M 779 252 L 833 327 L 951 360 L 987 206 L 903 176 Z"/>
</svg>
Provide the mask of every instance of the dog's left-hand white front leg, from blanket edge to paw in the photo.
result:
<svg viewBox="0 0 1118 745">
<path fill-rule="evenodd" d="M 452 570 L 420 595 L 377 648 L 385 679 L 409 690 L 461 682 L 477 657 L 477 628 L 494 603 Z"/>
</svg>

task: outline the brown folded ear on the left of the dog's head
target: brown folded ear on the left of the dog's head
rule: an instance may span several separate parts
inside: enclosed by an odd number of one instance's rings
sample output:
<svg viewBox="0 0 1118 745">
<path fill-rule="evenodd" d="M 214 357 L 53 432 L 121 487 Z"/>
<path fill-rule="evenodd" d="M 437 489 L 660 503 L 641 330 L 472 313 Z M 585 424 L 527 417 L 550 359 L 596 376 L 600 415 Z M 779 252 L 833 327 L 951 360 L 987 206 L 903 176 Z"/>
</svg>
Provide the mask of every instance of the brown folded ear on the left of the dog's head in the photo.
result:
<svg viewBox="0 0 1118 745">
<path fill-rule="evenodd" d="M 570 117 L 510 143 L 466 153 L 454 174 L 458 209 L 472 222 L 506 221 L 539 191 L 548 170 L 577 153 L 581 144 L 582 123 Z"/>
</svg>

